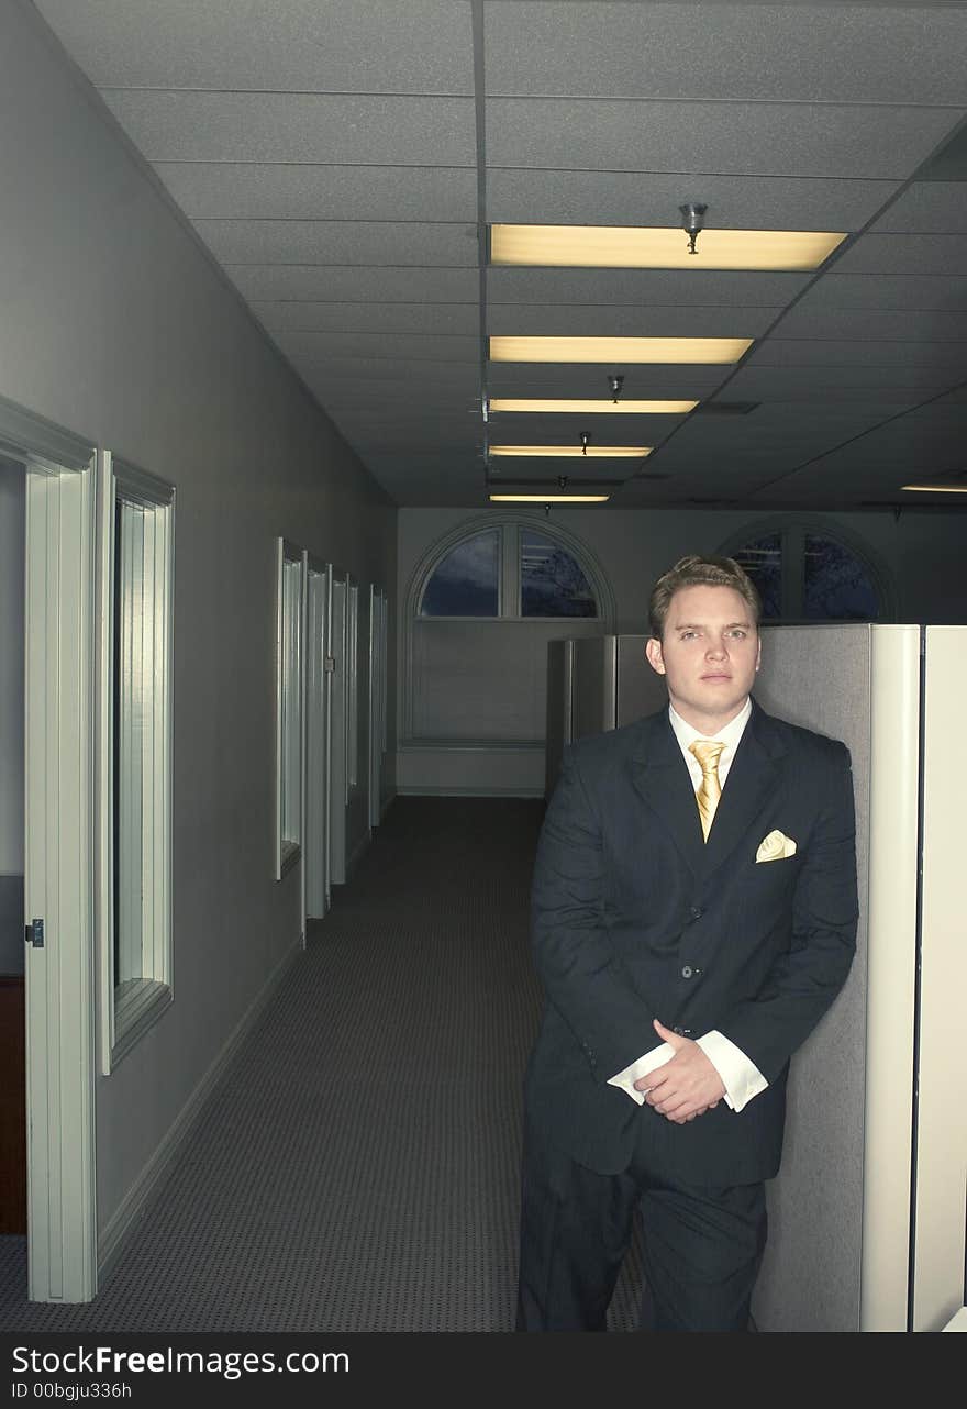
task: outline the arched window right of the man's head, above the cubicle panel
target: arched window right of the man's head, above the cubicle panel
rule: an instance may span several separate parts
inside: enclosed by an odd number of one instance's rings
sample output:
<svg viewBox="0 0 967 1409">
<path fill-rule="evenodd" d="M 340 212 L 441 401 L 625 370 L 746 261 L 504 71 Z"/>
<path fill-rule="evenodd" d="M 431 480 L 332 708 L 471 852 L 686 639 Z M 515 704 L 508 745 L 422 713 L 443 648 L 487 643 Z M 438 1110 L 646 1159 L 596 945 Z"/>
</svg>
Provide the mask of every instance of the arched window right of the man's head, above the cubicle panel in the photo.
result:
<svg viewBox="0 0 967 1409">
<path fill-rule="evenodd" d="M 839 528 L 772 520 L 719 551 L 756 583 L 764 621 L 882 621 L 889 614 L 882 571 Z"/>
</svg>

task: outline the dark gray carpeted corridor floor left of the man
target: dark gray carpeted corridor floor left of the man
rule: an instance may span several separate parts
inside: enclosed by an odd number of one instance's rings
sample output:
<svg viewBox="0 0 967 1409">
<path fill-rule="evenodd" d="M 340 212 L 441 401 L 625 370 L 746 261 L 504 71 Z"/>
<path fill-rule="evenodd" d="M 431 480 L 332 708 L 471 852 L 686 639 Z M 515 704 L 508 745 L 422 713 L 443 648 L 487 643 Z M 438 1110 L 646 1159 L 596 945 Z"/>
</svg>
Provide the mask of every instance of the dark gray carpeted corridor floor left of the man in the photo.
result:
<svg viewBox="0 0 967 1409">
<path fill-rule="evenodd" d="M 0 1327 L 512 1330 L 540 819 L 398 799 L 96 1301 L 27 1302 L 25 1241 L 0 1239 Z M 615 1330 L 636 1279 L 632 1255 Z"/>
</svg>

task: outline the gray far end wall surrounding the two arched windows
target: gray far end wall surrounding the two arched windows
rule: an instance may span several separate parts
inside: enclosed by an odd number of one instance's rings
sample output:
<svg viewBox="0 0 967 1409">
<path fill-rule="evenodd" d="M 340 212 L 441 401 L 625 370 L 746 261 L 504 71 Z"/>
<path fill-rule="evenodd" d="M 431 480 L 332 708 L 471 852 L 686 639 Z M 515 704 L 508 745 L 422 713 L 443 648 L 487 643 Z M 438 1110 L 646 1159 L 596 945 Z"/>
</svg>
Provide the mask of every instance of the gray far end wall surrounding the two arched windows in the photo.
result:
<svg viewBox="0 0 967 1409">
<path fill-rule="evenodd" d="M 399 579 L 398 602 L 406 610 L 406 596 L 421 559 L 434 542 L 451 533 L 460 523 L 479 519 L 479 510 L 465 509 L 400 509 L 399 511 Z M 616 602 L 612 630 L 637 633 L 646 630 L 647 599 L 654 579 L 686 552 L 716 552 L 746 531 L 768 531 L 778 516 L 750 514 L 733 510 L 582 510 L 558 511 L 553 523 L 560 523 L 579 538 L 610 581 Z M 895 621 L 967 621 L 967 576 L 963 572 L 963 547 L 967 519 L 959 513 L 905 509 L 899 517 L 892 511 L 849 514 L 784 514 L 803 527 L 826 526 L 854 544 L 873 562 L 892 593 Z M 533 514 L 534 526 L 546 523 L 543 509 Z M 575 630 L 575 626 L 578 627 Z M 400 621 L 400 652 L 405 651 L 406 631 Z M 557 634 L 582 634 L 584 623 L 562 621 Z M 451 627 L 451 630 L 457 630 Z M 506 631 L 517 627 L 507 626 Z M 481 637 L 479 626 L 467 626 L 469 635 Z M 536 709 L 534 672 L 502 675 L 500 630 L 486 643 L 489 654 L 481 655 L 478 641 L 476 671 L 502 678 L 507 692 L 507 709 L 517 716 L 533 714 Z M 407 688 L 406 662 L 400 659 L 400 720 L 405 714 Z M 414 693 L 419 685 L 414 686 Z M 517 697 L 520 696 L 520 697 Z M 465 720 L 471 728 L 471 720 Z M 489 752 L 489 758 L 488 758 Z M 544 790 L 544 761 L 537 748 L 517 748 L 510 754 L 506 743 L 493 741 L 492 750 L 478 747 L 474 752 L 454 748 L 433 748 L 400 738 L 398 776 L 409 792 L 486 792 L 505 790 L 540 795 Z"/>
</svg>

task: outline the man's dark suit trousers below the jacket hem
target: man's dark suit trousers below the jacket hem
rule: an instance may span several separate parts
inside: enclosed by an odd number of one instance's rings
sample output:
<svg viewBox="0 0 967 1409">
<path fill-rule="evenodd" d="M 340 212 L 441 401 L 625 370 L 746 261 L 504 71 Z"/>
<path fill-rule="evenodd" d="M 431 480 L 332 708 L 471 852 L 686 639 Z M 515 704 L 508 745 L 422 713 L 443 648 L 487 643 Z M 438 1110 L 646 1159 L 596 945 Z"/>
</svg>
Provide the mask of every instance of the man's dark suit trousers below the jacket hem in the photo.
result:
<svg viewBox="0 0 967 1409">
<path fill-rule="evenodd" d="M 749 1330 L 765 1248 L 763 1184 L 684 1184 L 657 1168 L 646 1148 L 636 1150 L 623 1172 L 596 1174 L 530 1130 L 517 1330 L 608 1329 L 639 1205 L 646 1277 L 640 1329 Z"/>
</svg>

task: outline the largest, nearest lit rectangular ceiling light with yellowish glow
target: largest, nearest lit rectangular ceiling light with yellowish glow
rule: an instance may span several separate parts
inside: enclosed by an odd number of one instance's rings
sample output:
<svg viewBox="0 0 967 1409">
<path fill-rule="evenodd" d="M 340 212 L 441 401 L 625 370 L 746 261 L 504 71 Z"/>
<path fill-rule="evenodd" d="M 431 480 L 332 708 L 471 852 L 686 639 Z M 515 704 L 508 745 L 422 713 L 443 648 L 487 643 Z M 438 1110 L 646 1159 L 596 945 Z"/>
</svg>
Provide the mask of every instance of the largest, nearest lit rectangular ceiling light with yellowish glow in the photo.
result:
<svg viewBox="0 0 967 1409">
<path fill-rule="evenodd" d="M 491 263 L 568 269 L 818 269 L 846 240 L 829 230 L 702 230 L 688 252 L 681 227 L 491 225 Z"/>
</svg>

